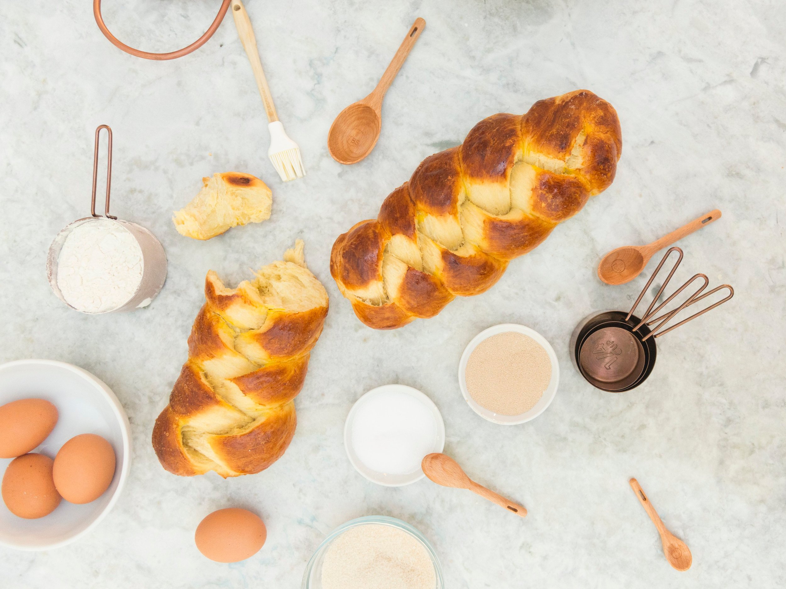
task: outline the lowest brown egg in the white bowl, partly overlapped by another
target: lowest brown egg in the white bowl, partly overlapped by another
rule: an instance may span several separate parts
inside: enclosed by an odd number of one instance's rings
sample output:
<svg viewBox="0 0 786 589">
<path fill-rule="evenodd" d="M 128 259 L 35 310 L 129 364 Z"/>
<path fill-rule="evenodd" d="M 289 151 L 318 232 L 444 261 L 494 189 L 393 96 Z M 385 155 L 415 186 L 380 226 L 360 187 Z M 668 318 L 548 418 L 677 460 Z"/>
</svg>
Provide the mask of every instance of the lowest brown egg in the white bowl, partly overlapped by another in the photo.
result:
<svg viewBox="0 0 786 589">
<path fill-rule="evenodd" d="M 52 464 L 52 459 L 43 454 L 25 454 L 11 461 L 2 477 L 2 500 L 12 514 L 43 518 L 60 505 Z"/>
</svg>

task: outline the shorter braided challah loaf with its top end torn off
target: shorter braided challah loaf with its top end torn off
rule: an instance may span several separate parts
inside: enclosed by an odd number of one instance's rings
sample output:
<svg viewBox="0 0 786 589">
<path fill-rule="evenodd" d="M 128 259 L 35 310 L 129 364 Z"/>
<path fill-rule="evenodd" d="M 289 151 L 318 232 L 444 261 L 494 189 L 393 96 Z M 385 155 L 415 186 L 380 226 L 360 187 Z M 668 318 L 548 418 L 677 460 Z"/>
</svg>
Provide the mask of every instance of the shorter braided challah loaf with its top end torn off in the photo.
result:
<svg viewBox="0 0 786 589">
<path fill-rule="evenodd" d="M 171 473 L 258 473 L 292 441 L 294 399 L 328 294 L 303 262 L 302 241 L 284 259 L 237 288 L 208 272 L 189 359 L 152 430 L 156 455 Z"/>
</svg>

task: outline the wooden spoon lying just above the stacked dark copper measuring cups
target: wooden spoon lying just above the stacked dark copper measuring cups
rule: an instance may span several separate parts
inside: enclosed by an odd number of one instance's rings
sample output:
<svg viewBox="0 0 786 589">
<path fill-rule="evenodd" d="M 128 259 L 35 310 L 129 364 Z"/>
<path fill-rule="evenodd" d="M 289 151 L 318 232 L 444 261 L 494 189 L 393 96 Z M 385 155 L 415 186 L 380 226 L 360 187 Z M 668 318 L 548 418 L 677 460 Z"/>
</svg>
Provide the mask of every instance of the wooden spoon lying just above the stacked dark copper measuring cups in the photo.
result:
<svg viewBox="0 0 786 589">
<path fill-rule="evenodd" d="M 597 265 L 597 276 L 606 284 L 630 282 L 641 274 L 641 270 L 645 269 L 653 254 L 719 218 L 721 218 L 721 211 L 711 210 L 700 218 L 689 222 L 688 225 L 683 225 L 648 245 L 618 247 L 604 255 L 601 263 Z"/>
</svg>

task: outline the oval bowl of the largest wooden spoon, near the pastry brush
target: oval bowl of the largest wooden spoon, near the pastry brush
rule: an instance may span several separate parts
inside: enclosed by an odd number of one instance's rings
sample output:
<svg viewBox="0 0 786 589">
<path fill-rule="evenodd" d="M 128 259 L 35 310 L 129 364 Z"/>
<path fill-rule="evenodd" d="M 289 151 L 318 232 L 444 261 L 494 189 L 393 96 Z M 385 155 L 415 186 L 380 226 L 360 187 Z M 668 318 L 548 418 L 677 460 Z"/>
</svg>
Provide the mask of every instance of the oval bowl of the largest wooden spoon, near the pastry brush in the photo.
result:
<svg viewBox="0 0 786 589">
<path fill-rule="evenodd" d="M 380 113 L 365 100 L 344 108 L 330 126 L 328 151 L 338 163 L 359 162 L 371 153 L 380 137 Z"/>
</svg>

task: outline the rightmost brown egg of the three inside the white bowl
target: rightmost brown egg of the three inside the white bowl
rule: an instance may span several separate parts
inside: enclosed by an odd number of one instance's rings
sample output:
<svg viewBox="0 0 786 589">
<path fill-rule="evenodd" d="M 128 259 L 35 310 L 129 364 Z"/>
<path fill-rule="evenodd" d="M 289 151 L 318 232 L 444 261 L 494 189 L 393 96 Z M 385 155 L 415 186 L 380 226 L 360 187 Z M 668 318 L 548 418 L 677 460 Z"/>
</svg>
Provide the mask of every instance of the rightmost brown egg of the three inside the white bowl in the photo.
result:
<svg viewBox="0 0 786 589">
<path fill-rule="evenodd" d="M 82 434 L 68 440 L 54 457 L 54 486 L 70 503 L 98 499 L 115 476 L 115 451 L 103 437 Z"/>
</svg>

